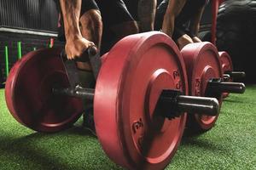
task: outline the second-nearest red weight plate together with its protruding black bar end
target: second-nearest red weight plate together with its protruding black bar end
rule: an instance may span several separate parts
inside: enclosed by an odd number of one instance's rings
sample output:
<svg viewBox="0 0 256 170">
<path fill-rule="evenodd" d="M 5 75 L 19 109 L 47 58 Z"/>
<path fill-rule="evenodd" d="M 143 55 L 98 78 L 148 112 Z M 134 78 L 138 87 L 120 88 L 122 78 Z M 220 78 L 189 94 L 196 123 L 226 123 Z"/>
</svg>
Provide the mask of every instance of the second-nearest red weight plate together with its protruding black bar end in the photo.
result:
<svg viewBox="0 0 256 170">
<path fill-rule="evenodd" d="M 191 43 L 181 50 L 181 54 L 188 73 L 189 95 L 213 97 L 221 105 L 223 93 L 244 93 L 243 83 L 224 82 L 218 50 L 212 43 Z M 218 115 L 189 114 L 187 123 L 189 128 L 201 133 L 212 128 L 217 119 Z"/>
</svg>

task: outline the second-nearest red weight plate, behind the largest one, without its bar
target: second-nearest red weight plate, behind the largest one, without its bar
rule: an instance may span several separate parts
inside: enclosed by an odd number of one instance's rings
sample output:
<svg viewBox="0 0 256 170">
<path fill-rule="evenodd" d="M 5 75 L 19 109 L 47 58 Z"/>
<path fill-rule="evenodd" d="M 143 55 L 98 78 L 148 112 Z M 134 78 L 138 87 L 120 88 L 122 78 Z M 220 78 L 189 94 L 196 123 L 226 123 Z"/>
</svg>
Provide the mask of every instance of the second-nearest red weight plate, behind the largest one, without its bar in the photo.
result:
<svg viewBox="0 0 256 170">
<path fill-rule="evenodd" d="M 189 95 L 205 96 L 209 79 L 223 77 L 217 48 L 210 42 L 198 42 L 185 46 L 181 53 L 188 74 Z M 221 105 L 222 99 L 218 102 Z M 206 131 L 213 127 L 217 119 L 218 116 L 193 114 L 188 116 L 188 126 L 196 131 Z"/>
</svg>

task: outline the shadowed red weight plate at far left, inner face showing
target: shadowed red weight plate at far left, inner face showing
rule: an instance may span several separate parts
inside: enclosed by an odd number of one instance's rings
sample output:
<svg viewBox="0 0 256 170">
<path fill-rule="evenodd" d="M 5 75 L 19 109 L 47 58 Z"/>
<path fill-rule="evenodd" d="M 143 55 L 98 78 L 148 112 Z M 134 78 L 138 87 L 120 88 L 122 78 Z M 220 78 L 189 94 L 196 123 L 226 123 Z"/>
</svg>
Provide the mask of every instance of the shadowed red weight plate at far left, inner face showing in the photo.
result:
<svg viewBox="0 0 256 170">
<path fill-rule="evenodd" d="M 13 66 L 5 86 L 6 103 L 15 119 L 33 130 L 56 132 L 70 127 L 83 111 L 82 101 L 55 96 L 52 88 L 67 88 L 61 50 L 40 49 Z"/>
</svg>

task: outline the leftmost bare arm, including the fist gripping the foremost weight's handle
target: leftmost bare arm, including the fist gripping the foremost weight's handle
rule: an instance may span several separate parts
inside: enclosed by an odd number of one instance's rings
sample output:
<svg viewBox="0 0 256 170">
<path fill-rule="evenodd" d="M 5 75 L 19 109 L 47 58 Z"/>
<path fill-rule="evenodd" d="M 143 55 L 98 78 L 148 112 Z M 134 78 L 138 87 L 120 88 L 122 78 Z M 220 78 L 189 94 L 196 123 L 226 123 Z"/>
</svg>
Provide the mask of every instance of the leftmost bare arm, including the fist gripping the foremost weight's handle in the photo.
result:
<svg viewBox="0 0 256 170">
<path fill-rule="evenodd" d="M 93 42 L 82 37 L 79 28 L 79 18 L 81 11 L 81 0 L 60 0 L 61 11 L 64 20 L 66 42 L 66 53 L 68 59 L 74 59 L 84 53 Z"/>
</svg>

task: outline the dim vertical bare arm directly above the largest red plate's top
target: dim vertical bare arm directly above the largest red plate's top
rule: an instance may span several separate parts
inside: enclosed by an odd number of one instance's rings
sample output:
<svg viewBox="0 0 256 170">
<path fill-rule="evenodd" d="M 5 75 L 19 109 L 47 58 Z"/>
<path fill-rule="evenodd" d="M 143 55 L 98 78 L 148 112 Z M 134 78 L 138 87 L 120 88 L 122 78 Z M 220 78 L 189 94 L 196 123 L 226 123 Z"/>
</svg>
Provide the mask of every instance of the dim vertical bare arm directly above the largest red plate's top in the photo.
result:
<svg viewBox="0 0 256 170">
<path fill-rule="evenodd" d="M 137 14 L 141 31 L 154 30 L 156 0 L 138 0 Z"/>
</svg>

